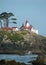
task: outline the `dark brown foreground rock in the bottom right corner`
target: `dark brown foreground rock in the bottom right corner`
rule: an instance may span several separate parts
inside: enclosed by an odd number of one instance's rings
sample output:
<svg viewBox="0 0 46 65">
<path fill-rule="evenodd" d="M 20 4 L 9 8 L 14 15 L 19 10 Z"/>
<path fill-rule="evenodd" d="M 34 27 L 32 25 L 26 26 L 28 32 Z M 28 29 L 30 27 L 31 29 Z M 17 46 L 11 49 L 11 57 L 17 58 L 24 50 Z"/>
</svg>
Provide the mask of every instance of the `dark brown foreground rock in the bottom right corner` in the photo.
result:
<svg viewBox="0 0 46 65">
<path fill-rule="evenodd" d="M 32 62 L 33 65 L 46 65 L 46 55 L 39 55 L 36 61 Z"/>
</svg>

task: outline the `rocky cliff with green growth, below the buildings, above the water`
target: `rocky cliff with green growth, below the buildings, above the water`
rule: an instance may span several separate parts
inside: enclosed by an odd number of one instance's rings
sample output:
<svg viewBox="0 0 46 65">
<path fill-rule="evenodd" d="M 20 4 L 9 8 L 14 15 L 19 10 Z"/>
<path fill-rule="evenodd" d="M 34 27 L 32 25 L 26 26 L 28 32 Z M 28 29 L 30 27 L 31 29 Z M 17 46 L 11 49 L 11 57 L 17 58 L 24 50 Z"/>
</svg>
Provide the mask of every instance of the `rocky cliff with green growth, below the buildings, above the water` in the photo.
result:
<svg viewBox="0 0 46 65">
<path fill-rule="evenodd" d="M 0 53 L 46 54 L 46 37 L 30 31 L 0 31 Z"/>
</svg>

